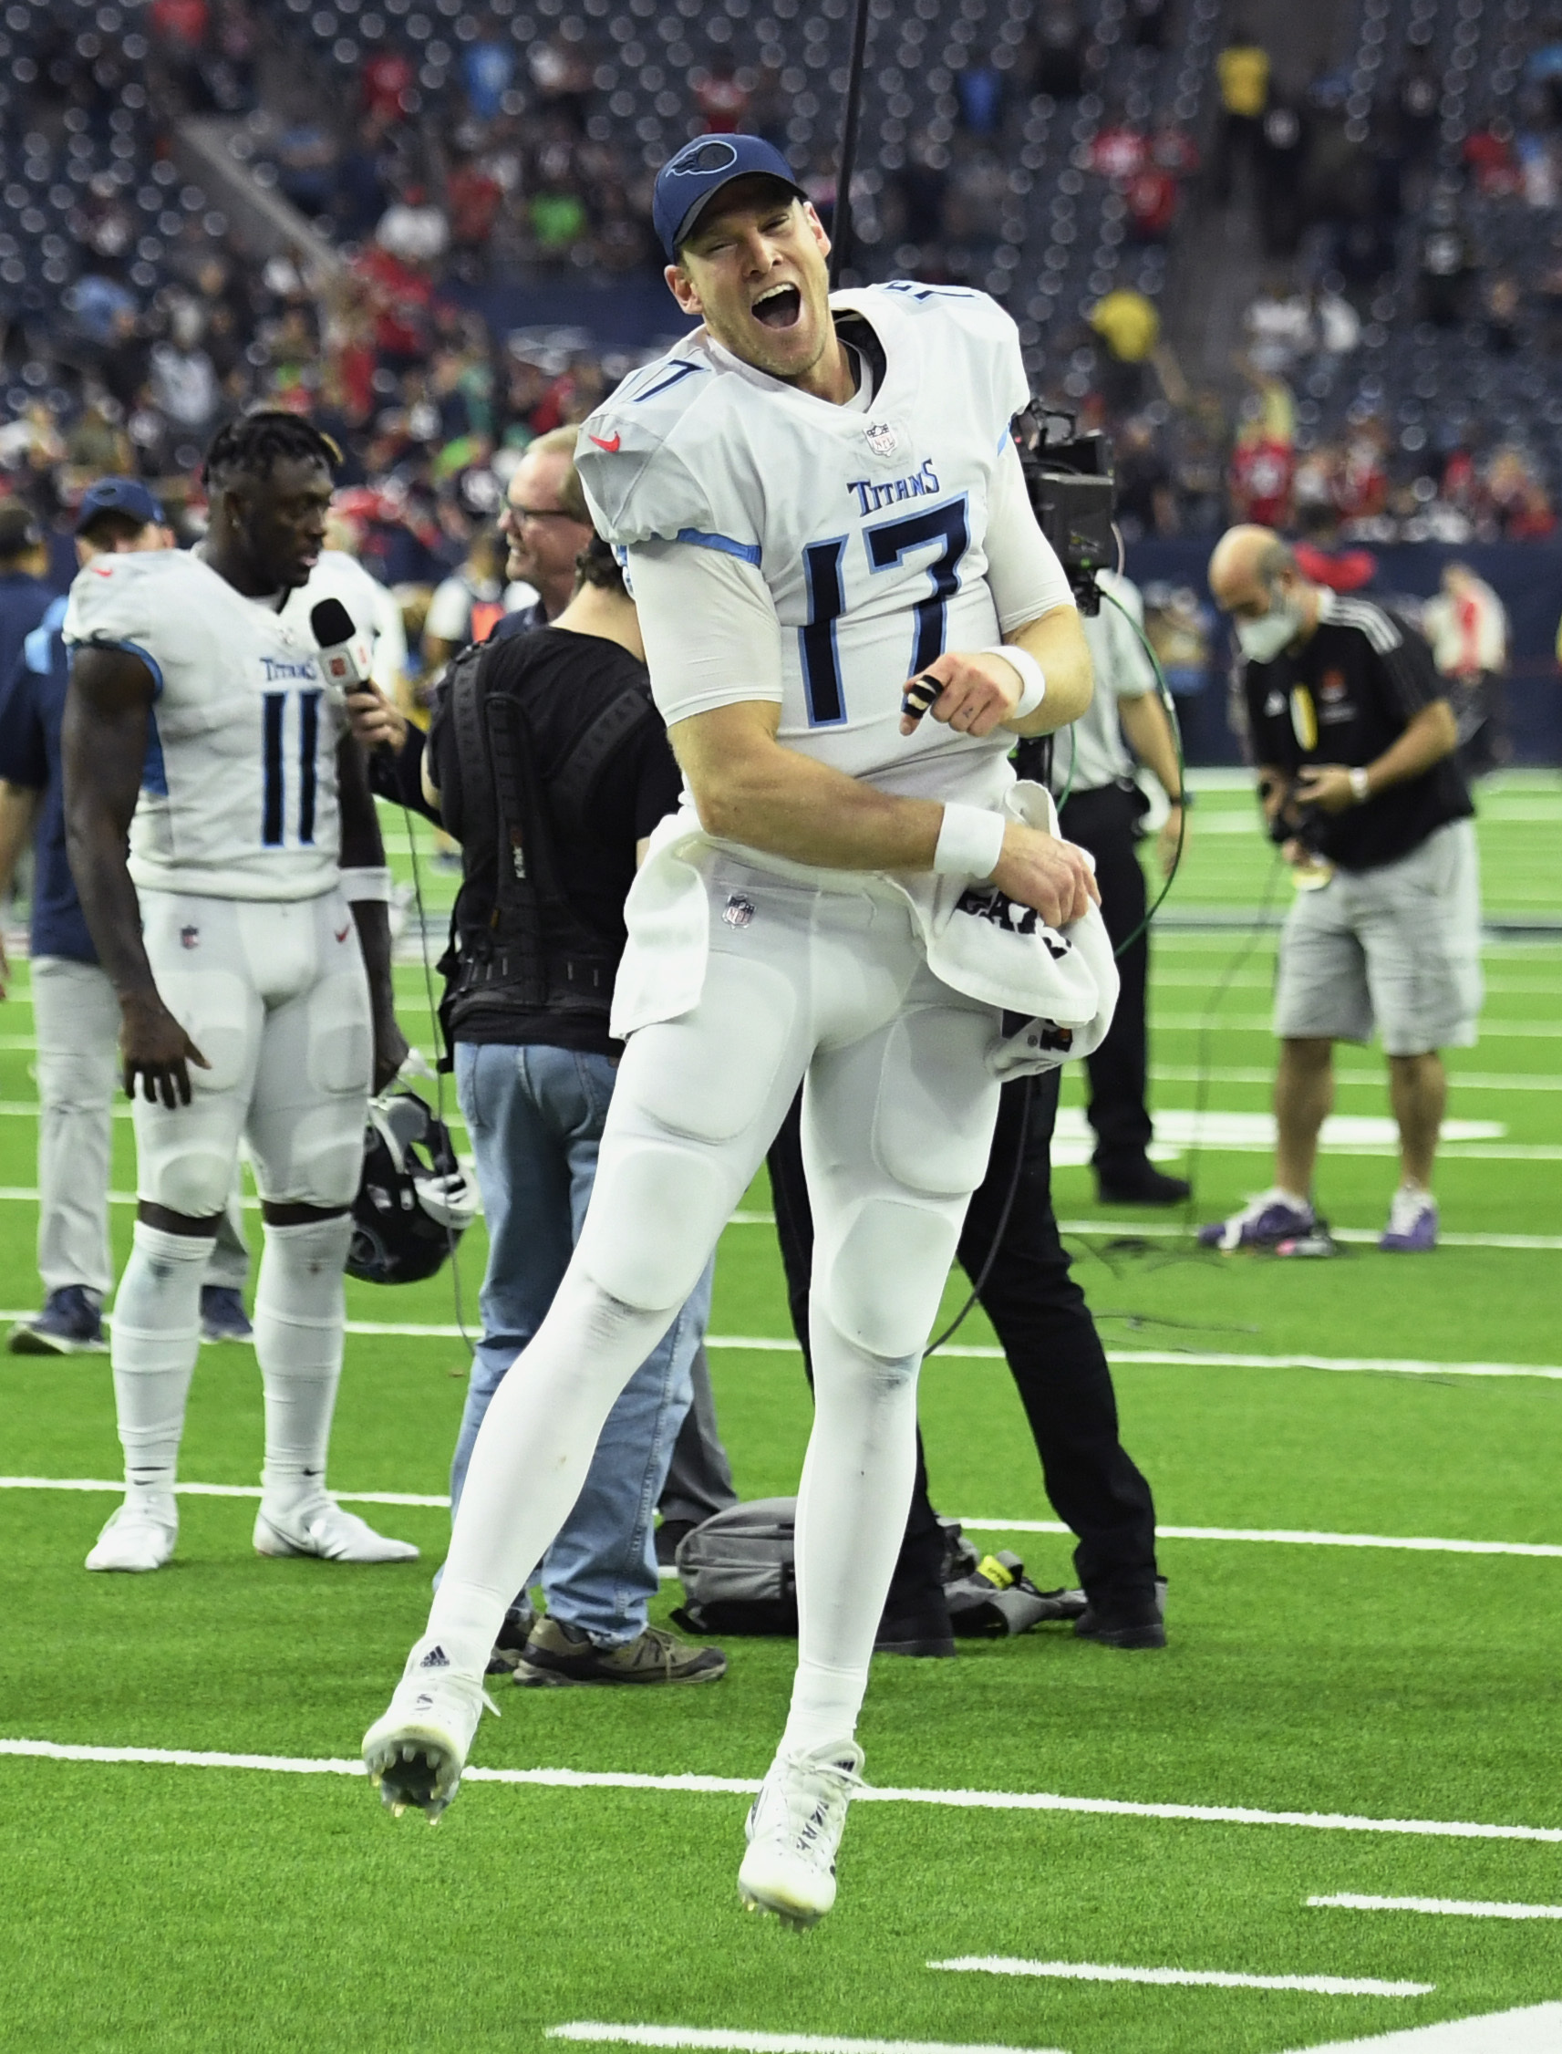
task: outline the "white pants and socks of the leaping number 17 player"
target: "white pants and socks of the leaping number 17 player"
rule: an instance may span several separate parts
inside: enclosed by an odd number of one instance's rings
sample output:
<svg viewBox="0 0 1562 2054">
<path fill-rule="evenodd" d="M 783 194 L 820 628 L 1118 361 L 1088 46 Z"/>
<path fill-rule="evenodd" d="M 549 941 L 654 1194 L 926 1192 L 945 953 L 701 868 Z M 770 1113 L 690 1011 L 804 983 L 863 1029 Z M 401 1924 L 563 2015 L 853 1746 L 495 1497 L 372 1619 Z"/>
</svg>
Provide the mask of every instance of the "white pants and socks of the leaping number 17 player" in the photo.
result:
<svg viewBox="0 0 1562 2054">
<path fill-rule="evenodd" d="M 848 1738 L 905 1530 L 915 1378 L 987 1169 L 1000 1017 L 926 967 L 905 902 L 716 857 L 692 1013 L 628 1043 L 597 1181 L 552 1310 L 499 1386 L 429 1616 L 480 1674 L 601 1423 L 694 1288 L 798 1080 L 815 1218 L 815 1423 L 796 1522 L 788 1742 Z"/>
</svg>

